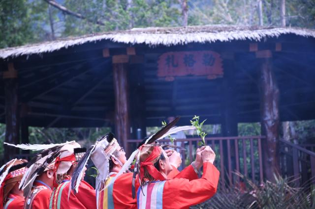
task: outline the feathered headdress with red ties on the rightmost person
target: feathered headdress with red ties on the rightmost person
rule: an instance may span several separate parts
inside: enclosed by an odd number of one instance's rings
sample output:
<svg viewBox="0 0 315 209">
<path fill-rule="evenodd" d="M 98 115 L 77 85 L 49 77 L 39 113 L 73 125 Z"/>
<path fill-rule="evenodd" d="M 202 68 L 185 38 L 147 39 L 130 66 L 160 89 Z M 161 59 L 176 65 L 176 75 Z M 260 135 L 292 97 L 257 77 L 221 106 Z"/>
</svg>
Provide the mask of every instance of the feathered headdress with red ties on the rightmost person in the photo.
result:
<svg viewBox="0 0 315 209">
<path fill-rule="evenodd" d="M 176 125 L 176 123 L 179 121 L 179 117 L 175 118 L 174 121 L 172 121 L 171 123 L 167 124 L 166 126 L 164 126 L 162 129 L 160 129 L 158 132 L 156 132 L 155 134 L 151 135 L 145 142 L 143 145 L 141 145 L 138 149 L 136 149 L 128 158 L 128 160 L 126 161 L 126 163 L 123 165 L 122 169 L 120 170 L 120 172 L 111 179 L 111 182 L 108 183 L 105 187 L 107 188 L 111 183 L 113 183 L 120 175 L 122 175 L 126 169 L 128 169 L 128 167 L 131 165 L 132 161 L 134 160 L 134 158 L 137 156 L 135 164 L 134 164 L 134 169 L 133 169 L 133 178 L 132 178 L 132 197 L 135 197 L 135 178 L 138 174 L 138 177 L 140 178 L 141 176 L 141 170 L 140 170 L 140 164 L 139 164 L 139 158 L 140 158 L 140 152 L 144 147 L 157 147 L 159 150 L 161 149 L 160 147 L 177 147 L 177 146 L 173 146 L 173 145 L 164 145 L 164 144 L 153 144 L 155 141 L 162 139 L 170 134 L 176 133 L 178 131 L 186 131 L 186 130 L 192 130 L 195 129 L 195 127 L 192 126 L 181 126 L 181 127 L 174 127 Z M 180 147 L 177 147 L 180 148 Z M 181 148 L 180 148 L 181 149 Z M 141 179 L 140 180 L 140 185 L 141 185 Z"/>
</svg>

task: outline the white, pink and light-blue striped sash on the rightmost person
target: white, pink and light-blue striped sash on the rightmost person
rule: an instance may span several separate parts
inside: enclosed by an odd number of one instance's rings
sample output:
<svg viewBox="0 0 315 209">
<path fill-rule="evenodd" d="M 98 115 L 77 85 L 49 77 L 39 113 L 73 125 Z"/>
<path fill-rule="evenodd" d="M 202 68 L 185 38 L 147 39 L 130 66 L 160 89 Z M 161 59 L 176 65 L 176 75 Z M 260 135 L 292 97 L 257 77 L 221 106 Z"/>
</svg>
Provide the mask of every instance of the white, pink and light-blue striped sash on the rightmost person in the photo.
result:
<svg viewBox="0 0 315 209">
<path fill-rule="evenodd" d="M 162 209 L 163 188 L 165 181 L 152 182 L 139 187 L 137 192 L 138 209 Z"/>
</svg>

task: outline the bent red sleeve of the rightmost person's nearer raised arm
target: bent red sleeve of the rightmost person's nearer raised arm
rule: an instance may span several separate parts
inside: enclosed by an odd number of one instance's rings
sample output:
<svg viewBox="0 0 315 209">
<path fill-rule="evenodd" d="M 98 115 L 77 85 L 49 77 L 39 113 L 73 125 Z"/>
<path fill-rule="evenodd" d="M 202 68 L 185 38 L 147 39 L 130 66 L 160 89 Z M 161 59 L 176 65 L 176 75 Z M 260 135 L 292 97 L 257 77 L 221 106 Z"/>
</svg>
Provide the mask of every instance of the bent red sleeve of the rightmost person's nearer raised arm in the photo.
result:
<svg viewBox="0 0 315 209">
<path fill-rule="evenodd" d="M 163 209 L 189 209 L 189 206 L 202 203 L 217 191 L 220 172 L 211 163 L 203 164 L 200 179 L 174 178 L 165 182 L 163 189 Z"/>
</svg>

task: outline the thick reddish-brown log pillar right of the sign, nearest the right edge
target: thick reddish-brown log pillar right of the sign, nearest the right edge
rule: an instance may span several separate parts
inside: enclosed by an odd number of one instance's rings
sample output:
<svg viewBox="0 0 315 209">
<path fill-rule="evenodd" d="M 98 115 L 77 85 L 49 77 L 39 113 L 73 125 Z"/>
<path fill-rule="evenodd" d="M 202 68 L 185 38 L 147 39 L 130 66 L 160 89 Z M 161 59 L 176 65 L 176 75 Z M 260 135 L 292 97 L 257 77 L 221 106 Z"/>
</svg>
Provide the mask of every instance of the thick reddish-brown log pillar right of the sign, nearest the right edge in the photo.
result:
<svg viewBox="0 0 315 209">
<path fill-rule="evenodd" d="M 274 180 L 274 174 L 280 174 L 279 165 L 279 88 L 272 70 L 272 52 L 257 51 L 260 70 L 260 118 L 261 132 L 266 136 L 262 140 L 264 175 Z"/>
</svg>

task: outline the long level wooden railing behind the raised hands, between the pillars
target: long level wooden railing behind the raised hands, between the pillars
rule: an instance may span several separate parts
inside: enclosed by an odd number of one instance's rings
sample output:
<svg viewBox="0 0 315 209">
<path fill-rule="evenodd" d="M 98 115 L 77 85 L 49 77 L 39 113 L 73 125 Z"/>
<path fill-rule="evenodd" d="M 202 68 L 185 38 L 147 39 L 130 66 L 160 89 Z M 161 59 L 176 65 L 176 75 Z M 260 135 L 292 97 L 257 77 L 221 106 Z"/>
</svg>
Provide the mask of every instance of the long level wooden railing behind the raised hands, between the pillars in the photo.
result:
<svg viewBox="0 0 315 209">
<path fill-rule="evenodd" d="M 221 185 L 232 185 L 240 182 L 233 172 L 240 172 L 253 182 L 263 181 L 261 140 L 264 136 L 234 136 L 234 137 L 208 137 L 206 144 L 211 146 L 216 153 L 215 165 L 221 173 Z M 142 140 L 127 140 L 128 147 L 137 146 Z M 160 140 L 160 143 L 168 143 L 169 139 Z M 200 138 L 177 139 L 175 145 L 186 148 L 182 154 L 182 167 L 189 165 L 195 158 L 195 150 Z"/>
</svg>

